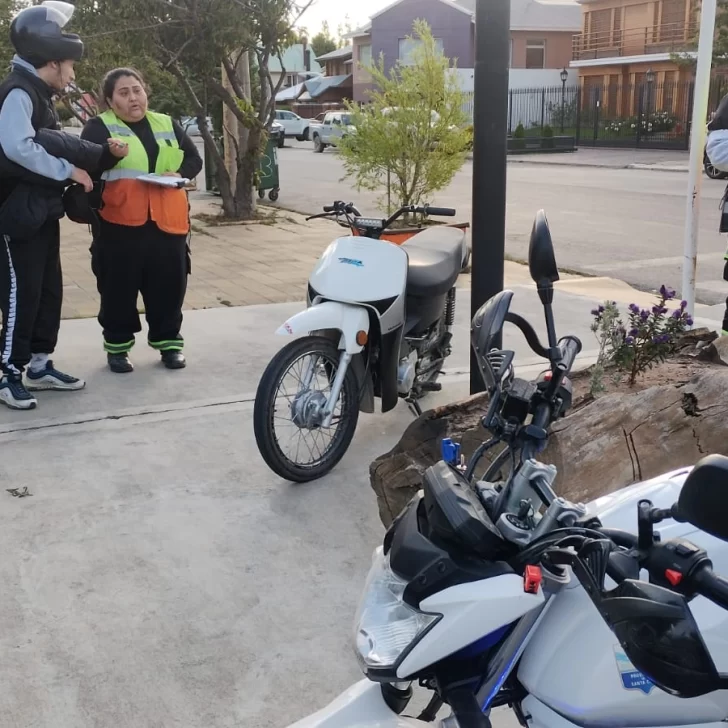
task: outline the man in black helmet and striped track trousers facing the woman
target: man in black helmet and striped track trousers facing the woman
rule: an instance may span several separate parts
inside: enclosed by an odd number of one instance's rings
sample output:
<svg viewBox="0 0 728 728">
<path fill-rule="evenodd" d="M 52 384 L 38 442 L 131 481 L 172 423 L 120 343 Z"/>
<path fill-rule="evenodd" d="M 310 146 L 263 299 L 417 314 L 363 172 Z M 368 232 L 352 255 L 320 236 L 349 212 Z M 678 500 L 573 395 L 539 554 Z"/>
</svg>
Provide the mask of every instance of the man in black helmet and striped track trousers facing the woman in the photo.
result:
<svg viewBox="0 0 728 728">
<path fill-rule="evenodd" d="M 63 297 L 61 195 L 71 180 L 87 192 L 93 183 L 86 171 L 51 156 L 34 141 L 40 129 L 60 129 L 53 96 L 73 82 L 73 64 L 83 55 L 81 39 L 62 30 L 72 14 L 72 5 L 55 0 L 18 13 L 10 26 L 17 55 L 0 84 L 1 151 L 36 180 L 28 184 L 26 178 L 22 187 L 18 177 L 0 175 L 0 401 L 13 409 L 35 408 L 28 390 L 85 385 L 58 371 L 50 355 Z"/>
</svg>

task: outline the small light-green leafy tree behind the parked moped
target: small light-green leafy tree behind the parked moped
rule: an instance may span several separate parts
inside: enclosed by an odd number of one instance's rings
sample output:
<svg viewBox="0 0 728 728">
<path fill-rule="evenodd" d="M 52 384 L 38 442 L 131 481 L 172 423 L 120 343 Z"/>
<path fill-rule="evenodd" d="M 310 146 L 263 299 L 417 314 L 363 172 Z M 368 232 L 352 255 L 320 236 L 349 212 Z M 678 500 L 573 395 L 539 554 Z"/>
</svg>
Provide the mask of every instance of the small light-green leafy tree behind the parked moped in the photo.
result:
<svg viewBox="0 0 728 728">
<path fill-rule="evenodd" d="M 429 26 L 414 24 L 411 65 L 388 75 L 384 58 L 369 70 L 376 90 L 361 109 L 348 104 L 355 133 L 339 144 L 357 188 L 386 188 L 387 207 L 419 205 L 446 187 L 465 162 L 469 135 L 465 96 Z M 380 201 L 384 202 L 384 200 Z"/>
</svg>

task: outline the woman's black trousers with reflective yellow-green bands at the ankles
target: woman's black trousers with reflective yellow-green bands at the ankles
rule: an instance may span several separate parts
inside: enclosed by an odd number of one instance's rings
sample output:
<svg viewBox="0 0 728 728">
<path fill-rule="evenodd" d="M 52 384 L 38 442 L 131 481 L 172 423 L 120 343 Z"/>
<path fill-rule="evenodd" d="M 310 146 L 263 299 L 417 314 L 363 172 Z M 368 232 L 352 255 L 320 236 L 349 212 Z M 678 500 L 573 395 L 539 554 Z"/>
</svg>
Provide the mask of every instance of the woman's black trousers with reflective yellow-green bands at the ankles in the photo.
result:
<svg viewBox="0 0 728 728">
<path fill-rule="evenodd" d="M 141 293 L 149 345 L 158 351 L 181 350 L 182 305 L 190 271 L 187 236 L 169 235 L 151 221 L 127 227 L 102 220 L 91 253 L 101 296 L 98 321 L 104 349 L 123 354 L 134 346 L 134 334 L 142 330 L 137 311 Z"/>
</svg>

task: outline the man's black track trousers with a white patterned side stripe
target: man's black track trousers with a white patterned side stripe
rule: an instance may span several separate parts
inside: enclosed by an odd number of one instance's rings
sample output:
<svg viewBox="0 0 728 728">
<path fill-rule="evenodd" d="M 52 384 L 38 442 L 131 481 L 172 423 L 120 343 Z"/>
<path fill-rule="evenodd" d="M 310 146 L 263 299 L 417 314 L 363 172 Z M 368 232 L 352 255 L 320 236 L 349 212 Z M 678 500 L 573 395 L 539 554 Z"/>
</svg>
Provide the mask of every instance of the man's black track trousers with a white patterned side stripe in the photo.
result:
<svg viewBox="0 0 728 728">
<path fill-rule="evenodd" d="M 29 240 L 0 236 L 0 366 L 20 373 L 31 354 L 52 354 L 63 305 L 60 225 L 46 222 Z"/>
</svg>

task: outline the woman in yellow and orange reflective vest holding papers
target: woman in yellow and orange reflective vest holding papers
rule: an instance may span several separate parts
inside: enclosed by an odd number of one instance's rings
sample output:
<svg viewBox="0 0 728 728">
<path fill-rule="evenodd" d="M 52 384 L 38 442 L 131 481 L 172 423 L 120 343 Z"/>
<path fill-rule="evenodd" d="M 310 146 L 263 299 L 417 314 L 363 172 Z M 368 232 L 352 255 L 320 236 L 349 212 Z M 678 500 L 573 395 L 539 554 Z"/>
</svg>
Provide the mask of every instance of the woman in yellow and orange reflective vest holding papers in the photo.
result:
<svg viewBox="0 0 728 728">
<path fill-rule="evenodd" d="M 113 137 L 129 146 L 128 155 L 101 175 L 100 220 L 91 248 L 109 367 L 117 373 L 134 369 L 129 352 L 142 328 L 141 293 L 149 346 L 168 369 L 181 369 L 182 305 L 190 272 L 187 192 L 139 178 L 156 173 L 193 179 L 202 160 L 177 122 L 148 110 L 137 71 L 111 71 L 102 94 L 108 110 L 87 122 L 82 137 L 97 143 Z"/>
</svg>

